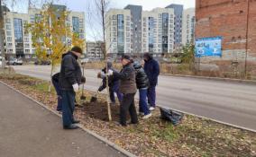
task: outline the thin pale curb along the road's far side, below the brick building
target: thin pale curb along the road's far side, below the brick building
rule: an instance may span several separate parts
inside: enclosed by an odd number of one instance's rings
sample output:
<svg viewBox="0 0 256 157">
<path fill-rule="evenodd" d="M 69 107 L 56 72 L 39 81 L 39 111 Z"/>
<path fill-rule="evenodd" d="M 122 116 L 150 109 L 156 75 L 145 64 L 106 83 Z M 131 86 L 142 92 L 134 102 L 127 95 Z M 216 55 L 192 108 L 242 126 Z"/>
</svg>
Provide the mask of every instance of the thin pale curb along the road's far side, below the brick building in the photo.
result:
<svg viewBox="0 0 256 157">
<path fill-rule="evenodd" d="M 221 77 L 205 77 L 205 76 L 182 75 L 182 74 L 160 74 L 160 75 L 173 76 L 173 77 L 197 78 L 197 79 L 215 80 L 215 81 L 224 81 L 224 82 L 233 82 L 233 83 L 256 84 L 256 81 L 253 81 L 253 80 L 241 80 L 241 79 L 231 79 L 231 78 L 221 78 Z"/>
</svg>

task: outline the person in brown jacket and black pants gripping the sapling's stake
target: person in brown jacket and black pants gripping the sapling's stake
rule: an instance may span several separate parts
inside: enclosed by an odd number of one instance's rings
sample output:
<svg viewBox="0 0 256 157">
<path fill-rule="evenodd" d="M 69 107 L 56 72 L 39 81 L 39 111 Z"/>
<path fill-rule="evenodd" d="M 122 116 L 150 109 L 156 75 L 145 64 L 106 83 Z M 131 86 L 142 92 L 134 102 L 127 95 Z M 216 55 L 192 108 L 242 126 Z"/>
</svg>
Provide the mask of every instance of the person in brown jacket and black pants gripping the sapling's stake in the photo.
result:
<svg viewBox="0 0 256 157">
<path fill-rule="evenodd" d="M 123 100 L 120 105 L 120 124 L 126 126 L 126 114 L 129 110 L 131 116 L 131 123 L 137 124 L 138 117 L 134 104 L 134 95 L 137 92 L 135 81 L 135 69 L 133 67 L 133 60 L 127 55 L 122 57 L 123 69 L 120 73 L 108 70 L 108 75 L 113 75 L 120 79 L 120 92 L 123 93 Z"/>
</svg>

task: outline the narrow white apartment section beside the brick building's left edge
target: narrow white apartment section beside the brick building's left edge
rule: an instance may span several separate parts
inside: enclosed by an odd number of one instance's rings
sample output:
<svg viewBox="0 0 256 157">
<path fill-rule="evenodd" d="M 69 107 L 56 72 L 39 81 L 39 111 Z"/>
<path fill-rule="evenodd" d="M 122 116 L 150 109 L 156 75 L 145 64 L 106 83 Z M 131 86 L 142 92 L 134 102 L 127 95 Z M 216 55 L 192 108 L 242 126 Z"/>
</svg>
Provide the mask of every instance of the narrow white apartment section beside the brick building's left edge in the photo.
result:
<svg viewBox="0 0 256 157">
<path fill-rule="evenodd" d="M 196 16 L 195 8 L 188 8 L 183 12 L 182 20 L 182 45 L 185 46 L 195 41 Z"/>
</svg>

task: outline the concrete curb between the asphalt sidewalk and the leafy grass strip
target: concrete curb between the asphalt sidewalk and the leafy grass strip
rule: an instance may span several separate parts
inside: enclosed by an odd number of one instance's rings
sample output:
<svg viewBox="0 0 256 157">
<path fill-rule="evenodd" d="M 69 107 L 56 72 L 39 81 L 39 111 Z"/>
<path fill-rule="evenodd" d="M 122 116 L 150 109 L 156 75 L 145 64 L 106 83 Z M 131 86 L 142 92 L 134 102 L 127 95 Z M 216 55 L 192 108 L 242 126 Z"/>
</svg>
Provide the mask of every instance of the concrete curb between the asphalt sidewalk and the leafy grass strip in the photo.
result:
<svg viewBox="0 0 256 157">
<path fill-rule="evenodd" d="M 37 101 L 37 100 L 32 99 L 32 97 L 30 97 L 30 96 L 24 94 L 23 92 L 20 92 L 20 91 L 14 89 L 14 87 L 12 87 L 12 86 L 10 86 L 10 85 L 8 85 L 8 84 L 2 82 L 2 81 L 0 81 L 0 83 L 4 84 L 6 87 L 8 87 L 9 89 L 13 90 L 14 92 L 18 92 L 19 94 L 22 94 L 25 98 L 34 101 L 35 103 L 37 103 L 38 105 L 40 105 L 42 108 L 48 109 L 50 112 L 52 112 L 53 114 L 55 114 L 56 116 L 58 116 L 59 118 L 61 118 L 61 115 L 59 114 L 59 112 L 57 112 L 57 111 L 55 111 L 55 110 L 53 110 L 53 109 L 50 109 L 49 107 L 47 107 L 47 106 L 44 105 L 43 103 L 41 103 L 41 102 L 39 102 L 39 101 Z M 118 151 L 118 152 L 120 152 L 120 153 L 123 153 L 124 155 L 129 156 L 129 157 L 136 157 L 136 155 L 134 155 L 133 153 L 130 153 L 130 152 L 124 150 L 123 148 L 121 148 L 120 146 L 118 146 L 118 145 L 116 145 L 116 144 L 114 144 L 114 143 L 108 141 L 105 137 L 103 137 L 103 136 L 101 136 L 101 135 L 97 135 L 95 132 L 88 130 L 86 127 L 84 127 L 84 126 L 82 126 L 82 125 L 80 125 L 80 124 L 79 124 L 78 126 L 79 126 L 82 130 L 84 130 L 85 132 L 87 132 L 87 134 L 96 137 L 96 139 L 98 139 L 99 141 L 102 141 L 103 143 L 105 143 L 105 144 L 111 146 L 111 147 L 114 148 L 116 151 Z"/>
</svg>

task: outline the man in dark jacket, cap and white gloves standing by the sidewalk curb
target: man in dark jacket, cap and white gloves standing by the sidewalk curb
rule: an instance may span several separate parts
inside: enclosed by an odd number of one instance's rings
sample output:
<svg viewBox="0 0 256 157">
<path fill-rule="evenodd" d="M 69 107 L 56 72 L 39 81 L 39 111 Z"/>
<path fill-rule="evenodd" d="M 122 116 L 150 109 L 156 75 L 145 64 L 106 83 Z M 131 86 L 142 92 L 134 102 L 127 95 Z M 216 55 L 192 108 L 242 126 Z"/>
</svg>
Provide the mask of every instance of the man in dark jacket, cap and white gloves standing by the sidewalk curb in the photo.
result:
<svg viewBox="0 0 256 157">
<path fill-rule="evenodd" d="M 62 120 L 64 129 L 76 129 L 76 123 L 73 117 L 75 109 L 75 96 L 79 90 L 81 83 L 81 69 L 78 65 L 78 57 L 82 55 L 82 49 L 73 47 L 71 50 L 64 54 L 61 61 L 59 86 L 62 96 Z"/>
</svg>

